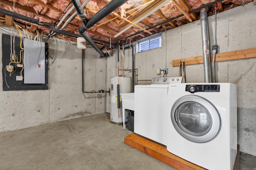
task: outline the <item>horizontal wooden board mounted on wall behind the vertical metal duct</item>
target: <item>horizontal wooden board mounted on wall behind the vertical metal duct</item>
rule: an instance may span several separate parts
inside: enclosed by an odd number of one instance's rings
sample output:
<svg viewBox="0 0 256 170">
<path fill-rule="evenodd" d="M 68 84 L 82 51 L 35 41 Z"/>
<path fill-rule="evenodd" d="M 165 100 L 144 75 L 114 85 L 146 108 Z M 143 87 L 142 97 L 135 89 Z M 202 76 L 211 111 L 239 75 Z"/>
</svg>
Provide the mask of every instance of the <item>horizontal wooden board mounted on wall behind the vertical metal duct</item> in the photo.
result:
<svg viewBox="0 0 256 170">
<path fill-rule="evenodd" d="M 229 60 L 238 60 L 238 59 L 248 59 L 253 57 L 256 57 L 256 48 L 230 51 L 225 53 L 217 53 L 215 56 L 215 61 L 216 62 L 229 61 Z M 210 59 L 212 62 L 212 54 L 210 55 Z M 203 56 L 197 56 L 197 57 L 173 60 L 172 66 L 179 66 L 180 61 L 184 61 L 186 65 L 204 63 Z"/>
</svg>

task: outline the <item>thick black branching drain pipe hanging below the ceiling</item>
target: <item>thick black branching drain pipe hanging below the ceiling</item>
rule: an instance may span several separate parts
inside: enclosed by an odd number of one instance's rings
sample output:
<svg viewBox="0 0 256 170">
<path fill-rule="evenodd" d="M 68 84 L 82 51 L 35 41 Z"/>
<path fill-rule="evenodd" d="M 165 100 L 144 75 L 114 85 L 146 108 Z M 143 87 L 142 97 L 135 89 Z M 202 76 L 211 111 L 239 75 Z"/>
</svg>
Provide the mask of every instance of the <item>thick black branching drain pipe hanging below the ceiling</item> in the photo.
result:
<svg viewBox="0 0 256 170">
<path fill-rule="evenodd" d="M 83 22 L 83 24 L 79 26 L 78 31 L 80 35 L 82 35 L 82 37 L 84 37 L 84 39 L 86 39 L 86 41 L 88 41 L 88 43 L 90 43 L 90 45 L 92 45 L 92 47 L 94 47 L 94 49 L 100 54 L 100 58 L 108 56 L 108 53 L 104 54 L 102 52 L 102 50 L 94 43 L 92 38 L 86 33 L 86 30 L 90 29 L 90 27 L 108 16 L 111 12 L 122 6 L 127 1 L 128 0 L 112 0 L 87 20 L 86 14 L 79 0 L 72 0 L 77 13 Z"/>
</svg>

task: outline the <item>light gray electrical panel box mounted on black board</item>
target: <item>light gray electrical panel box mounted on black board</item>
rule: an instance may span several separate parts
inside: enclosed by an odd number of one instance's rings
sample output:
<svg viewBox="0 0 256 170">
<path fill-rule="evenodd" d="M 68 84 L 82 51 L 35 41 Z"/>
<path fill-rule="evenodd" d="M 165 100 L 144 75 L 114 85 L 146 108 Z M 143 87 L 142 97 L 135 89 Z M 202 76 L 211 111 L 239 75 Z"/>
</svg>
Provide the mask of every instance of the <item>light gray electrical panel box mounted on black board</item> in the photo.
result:
<svg viewBox="0 0 256 170">
<path fill-rule="evenodd" d="M 45 83 L 45 43 L 24 39 L 24 83 Z"/>
</svg>

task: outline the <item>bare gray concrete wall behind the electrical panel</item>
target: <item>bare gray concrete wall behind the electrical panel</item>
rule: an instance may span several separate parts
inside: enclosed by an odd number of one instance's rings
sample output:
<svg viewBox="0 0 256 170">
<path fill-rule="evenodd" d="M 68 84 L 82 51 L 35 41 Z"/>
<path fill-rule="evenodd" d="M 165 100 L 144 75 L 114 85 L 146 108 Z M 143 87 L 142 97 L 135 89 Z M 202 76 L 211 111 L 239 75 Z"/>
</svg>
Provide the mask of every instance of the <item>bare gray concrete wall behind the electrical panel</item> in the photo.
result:
<svg viewBox="0 0 256 170">
<path fill-rule="evenodd" d="M 0 32 L 1 40 L 2 33 L 5 32 Z M 54 57 L 56 41 L 48 42 Z M 2 43 L 0 46 L 2 71 Z M 106 111 L 105 93 L 82 93 L 82 51 L 75 43 L 68 44 L 61 39 L 58 47 L 58 58 L 49 67 L 49 90 L 3 91 L 0 88 L 0 132 Z M 0 82 L 4 82 L 2 76 Z M 85 50 L 84 90 L 106 90 L 106 59 L 98 58 L 91 47 Z"/>
</svg>

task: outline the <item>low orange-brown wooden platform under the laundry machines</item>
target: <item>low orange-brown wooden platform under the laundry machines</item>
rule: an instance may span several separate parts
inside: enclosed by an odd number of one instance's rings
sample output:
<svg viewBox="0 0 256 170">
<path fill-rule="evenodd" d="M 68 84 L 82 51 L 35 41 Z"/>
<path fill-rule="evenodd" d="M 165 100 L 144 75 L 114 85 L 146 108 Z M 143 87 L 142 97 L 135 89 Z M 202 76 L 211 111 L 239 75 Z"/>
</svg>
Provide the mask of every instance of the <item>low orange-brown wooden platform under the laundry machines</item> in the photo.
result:
<svg viewBox="0 0 256 170">
<path fill-rule="evenodd" d="M 170 152 L 167 151 L 166 147 L 159 145 L 157 143 L 154 143 L 134 133 L 126 136 L 124 138 L 124 143 L 179 170 L 206 170 L 205 168 L 202 168 L 174 154 L 171 154 Z M 238 154 L 236 155 L 234 170 L 238 170 L 239 145 L 237 149 L 238 149 L 237 150 Z"/>
</svg>

